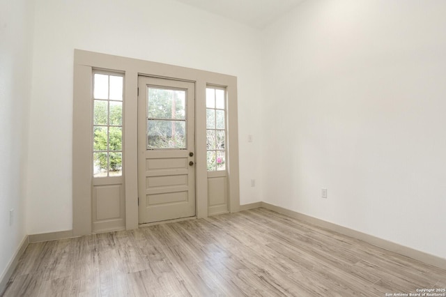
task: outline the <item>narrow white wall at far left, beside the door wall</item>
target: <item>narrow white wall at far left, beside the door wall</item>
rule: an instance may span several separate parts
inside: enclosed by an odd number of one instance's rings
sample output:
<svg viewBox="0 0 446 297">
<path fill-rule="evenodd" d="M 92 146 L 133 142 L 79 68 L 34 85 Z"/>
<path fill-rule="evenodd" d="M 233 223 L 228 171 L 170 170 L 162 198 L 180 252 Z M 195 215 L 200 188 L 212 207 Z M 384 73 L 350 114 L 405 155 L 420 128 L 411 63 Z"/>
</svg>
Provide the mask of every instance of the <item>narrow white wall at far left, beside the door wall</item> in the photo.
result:
<svg viewBox="0 0 446 297">
<path fill-rule="evenodd" d="M 31 89 L 31 22 L 30 1 L 0 1 L 0 280 L 26 235 L 22 181 Z"/>
</svg>

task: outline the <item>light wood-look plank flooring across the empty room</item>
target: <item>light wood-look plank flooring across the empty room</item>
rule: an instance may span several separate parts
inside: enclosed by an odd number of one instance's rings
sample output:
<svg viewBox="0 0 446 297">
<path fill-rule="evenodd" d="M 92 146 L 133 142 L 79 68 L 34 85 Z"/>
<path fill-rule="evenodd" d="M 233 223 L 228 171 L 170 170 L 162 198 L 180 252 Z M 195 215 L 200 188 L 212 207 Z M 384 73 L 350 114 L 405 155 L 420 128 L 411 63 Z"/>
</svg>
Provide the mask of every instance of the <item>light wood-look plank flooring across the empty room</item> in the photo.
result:
<svg viewBox="0 0 446 297">
<path fill-rule="evenodd" d="M 264 208 L 32 243 L 3 296 L 385 296 L 446 271 Z"/>
</svg>

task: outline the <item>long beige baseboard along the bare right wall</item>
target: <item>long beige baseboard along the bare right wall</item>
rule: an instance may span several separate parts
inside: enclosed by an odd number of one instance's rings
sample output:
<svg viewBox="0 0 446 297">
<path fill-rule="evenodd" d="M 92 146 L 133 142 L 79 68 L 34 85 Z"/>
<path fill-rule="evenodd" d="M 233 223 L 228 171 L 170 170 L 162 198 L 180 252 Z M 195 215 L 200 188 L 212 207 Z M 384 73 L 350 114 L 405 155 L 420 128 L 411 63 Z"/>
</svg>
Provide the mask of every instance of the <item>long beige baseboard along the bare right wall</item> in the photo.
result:
<svg viewBox="0 0 446 297">
<path fill-rule="evenodd" d="M 288 215 L 291 218 L 309 222 L 310 224 L 314 224 L 318 227 L 323 227 L 325 229 L 329 229 L 346 236 L 360 239 L 361 241 L 365 241 L 366 243 L 375 245 L 378 248 L 383 248 L 385 250 L 389 250 L 390 252 L 396 252 L 397 254 L 402 254 L 403 256 L 415 259 L 417 261 L 421 261 L 438 268 L 446 269 L 446 259 L 434 256 L 433 254 L 428 254 L 420 250 L 414 250 L 413 248 L 408 248 L 404 245 L 393 243 L 392 241 L 387 241 L 383 238 L 378 238 L 376 236 L 365 234 L 347 227 L 342 227 L 338 224 L 327 222 L 295 211 L 290 211 L 289 209 L 275 206 L 273 204 L 268 204 L 266 202 L 261 202 L 261 207 L 269 209 L 270 211 L 281 213 L 282 215 Z"/>
</svg>

